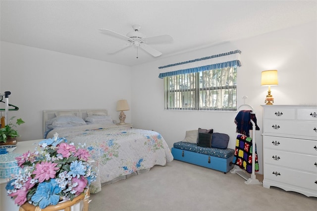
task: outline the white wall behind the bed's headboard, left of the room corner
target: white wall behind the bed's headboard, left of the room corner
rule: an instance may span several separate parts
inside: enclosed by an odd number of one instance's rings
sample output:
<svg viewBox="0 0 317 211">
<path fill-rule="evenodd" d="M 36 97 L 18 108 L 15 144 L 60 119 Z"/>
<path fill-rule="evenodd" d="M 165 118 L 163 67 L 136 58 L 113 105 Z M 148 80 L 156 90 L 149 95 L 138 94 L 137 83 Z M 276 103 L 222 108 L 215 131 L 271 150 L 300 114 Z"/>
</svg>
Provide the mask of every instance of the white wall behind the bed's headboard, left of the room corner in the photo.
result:
<svg viewBox="0 0 317 211">
<path fill-rule="evenodd" d="M 107 108 L 119 121 L 117 100 L 130 104 L 128 66 L 7 42 L 1 42 L 0 53 L 0 91 L 10 91 L 9 103 L 19 107 L 9 117 L 26 122 L 18 126 L 19 141 L 43 138 L 43 110 Z M 125 113 L 130 122 L 130 111 Z"/>
</svg>

